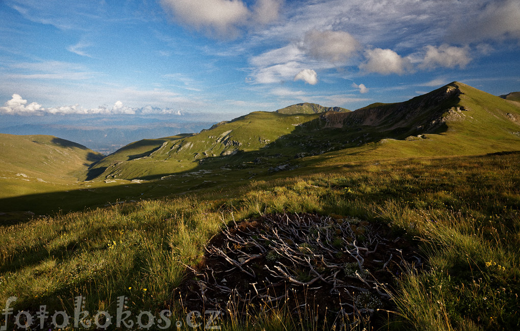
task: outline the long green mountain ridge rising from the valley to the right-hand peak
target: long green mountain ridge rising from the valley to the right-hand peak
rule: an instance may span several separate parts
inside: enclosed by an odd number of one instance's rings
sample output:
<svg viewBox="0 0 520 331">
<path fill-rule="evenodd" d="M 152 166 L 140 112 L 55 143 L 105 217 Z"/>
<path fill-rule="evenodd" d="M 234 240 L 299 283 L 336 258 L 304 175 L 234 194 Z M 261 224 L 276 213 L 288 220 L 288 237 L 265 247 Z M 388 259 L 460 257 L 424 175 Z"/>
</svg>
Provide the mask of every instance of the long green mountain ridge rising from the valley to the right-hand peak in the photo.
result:
<svg viewBox="0 0 520 331">
<path fill-rule="evenodd" d="M 284 164 L 326 163 L 326 158 L 311 158 L 324 153 L 355 162 L 518 150 L 520 107 L 453 82 L 408 101 L 374 103 L 353 112 L 253 112 L 159 143 L 148 151 L 128 145 L 124 152 L 139 157 L 107 157 L 92 166 L 89 178 L 153 179 L 219 168 L 251 168 L 258 174 Z"/>
</svg>

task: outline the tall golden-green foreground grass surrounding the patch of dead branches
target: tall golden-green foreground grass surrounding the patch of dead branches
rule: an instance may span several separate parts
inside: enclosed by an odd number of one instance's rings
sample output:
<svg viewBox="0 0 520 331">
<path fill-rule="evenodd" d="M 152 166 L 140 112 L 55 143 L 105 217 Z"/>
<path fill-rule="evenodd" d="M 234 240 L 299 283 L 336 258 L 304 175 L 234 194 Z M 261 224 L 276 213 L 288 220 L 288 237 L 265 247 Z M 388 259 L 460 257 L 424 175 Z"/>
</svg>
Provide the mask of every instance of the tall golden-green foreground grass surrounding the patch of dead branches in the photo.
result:
<svg viewBox="0 0 520 331">
<path fill-rule="evenodd" d="M 48 310 L 72 311 L 72 299 L 83 295 L 87 310 L 115 311 L 116 298 L 125 295 L 136 314 L 167 307 L 184 318 L 175 295 L 183 264 L 201 261 L 204 245 L 223 222 L 308 212 L 386 222 L 421 242 L 428 268 L 399 277 L 388 327 L 518 328 L 519 158 L 511 153 L 366 162 L 5 226 L 0 302 L 17 296 L 15 309 L 47 304 Z M 302 325 L 302 317 L 283 307 L 247 321 L 224 319 L 237 330 L 324 325 Z"/>
</svg>

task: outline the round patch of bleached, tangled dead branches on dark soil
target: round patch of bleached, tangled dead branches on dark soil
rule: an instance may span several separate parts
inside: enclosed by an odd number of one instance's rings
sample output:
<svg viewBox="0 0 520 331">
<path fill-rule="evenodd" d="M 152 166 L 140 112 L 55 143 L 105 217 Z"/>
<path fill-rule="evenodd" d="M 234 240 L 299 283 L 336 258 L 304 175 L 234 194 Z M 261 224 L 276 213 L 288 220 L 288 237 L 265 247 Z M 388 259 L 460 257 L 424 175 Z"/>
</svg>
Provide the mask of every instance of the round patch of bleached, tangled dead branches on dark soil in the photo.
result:
<svg viewBox="0 0 520 331">
<path fill-rule="evenodd" d="M 357 218 L 274 214 L 245 220 L 224 226 L 206 247 L 202 266 L 188 267 L 196 276 L 186 286 L 188 300 L 228 312 L 232 307 L 235 314 L 251 306 L 313 307 L 313 316 L 333 312 L 352 321 L 391 308 L 388 283 L 402 266 L 422 264 L 410 247 L 382 224 Z"/>
</svg>

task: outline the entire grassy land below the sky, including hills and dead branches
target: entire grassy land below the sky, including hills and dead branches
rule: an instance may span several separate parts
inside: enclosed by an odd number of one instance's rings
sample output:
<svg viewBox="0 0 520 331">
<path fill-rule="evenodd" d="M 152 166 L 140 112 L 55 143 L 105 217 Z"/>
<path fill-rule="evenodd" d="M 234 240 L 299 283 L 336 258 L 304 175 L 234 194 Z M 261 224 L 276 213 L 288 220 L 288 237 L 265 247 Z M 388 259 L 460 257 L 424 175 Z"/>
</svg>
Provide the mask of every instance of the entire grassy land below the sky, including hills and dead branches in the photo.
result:
<svg viewBox="0 0 520 331">
<path fill-rule="evenodd" d="M 515 329 L 508 99 L 453 82 L 356 111 L 298 104 L 105 157 L 3 135 L 7 325 L 38 326 L 43 305 L 75 316 L 80 297 L 81 323 L 116 328 L 124 296 L 155 328 Z"/>
</svg>

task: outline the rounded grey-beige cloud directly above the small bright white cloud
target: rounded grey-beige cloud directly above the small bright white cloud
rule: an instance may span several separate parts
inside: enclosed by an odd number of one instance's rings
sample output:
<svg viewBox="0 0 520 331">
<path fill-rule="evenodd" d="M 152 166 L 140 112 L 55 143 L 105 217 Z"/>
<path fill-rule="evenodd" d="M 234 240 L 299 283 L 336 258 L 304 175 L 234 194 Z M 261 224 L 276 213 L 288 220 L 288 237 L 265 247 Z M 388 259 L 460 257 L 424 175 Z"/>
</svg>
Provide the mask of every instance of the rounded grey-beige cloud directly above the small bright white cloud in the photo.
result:
<svg viewBox="0 0 520 331">
<path fill-rule="evenodd" d="M 360 44 L 345 31 L 316 31 L 305 34 L 303 48 L 316 59 L 345 62 L 359 49 Z"/>
</svg>

